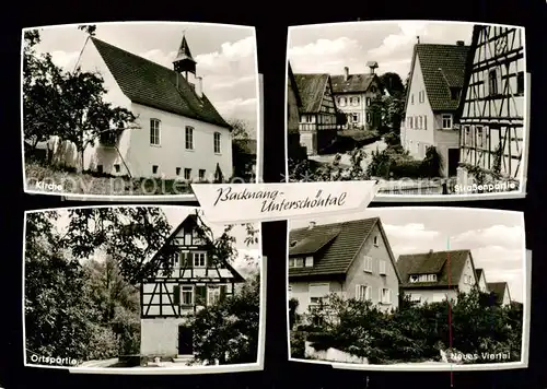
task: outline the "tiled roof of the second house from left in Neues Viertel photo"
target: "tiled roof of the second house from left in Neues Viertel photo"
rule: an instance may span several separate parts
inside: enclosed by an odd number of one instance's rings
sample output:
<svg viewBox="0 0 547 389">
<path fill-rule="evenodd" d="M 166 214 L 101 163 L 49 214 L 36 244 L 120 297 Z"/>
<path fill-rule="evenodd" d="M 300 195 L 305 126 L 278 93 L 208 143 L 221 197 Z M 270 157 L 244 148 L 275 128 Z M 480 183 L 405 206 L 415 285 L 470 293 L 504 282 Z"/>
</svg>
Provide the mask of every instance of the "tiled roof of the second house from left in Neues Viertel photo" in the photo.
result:
<svg viewBox="0 0 547 389">
<path fill-rule="evenodd" d="M 450 286 L 459 283 L 469 250 L 429 251 L 399 256 L 397 270 L 401 278 L 403 287 L 421 288 L 449 286 L 449 256 L 450 256 Z M 437 274 L 435 282 L 410 283 L 411 274 Z"/>
</svg>

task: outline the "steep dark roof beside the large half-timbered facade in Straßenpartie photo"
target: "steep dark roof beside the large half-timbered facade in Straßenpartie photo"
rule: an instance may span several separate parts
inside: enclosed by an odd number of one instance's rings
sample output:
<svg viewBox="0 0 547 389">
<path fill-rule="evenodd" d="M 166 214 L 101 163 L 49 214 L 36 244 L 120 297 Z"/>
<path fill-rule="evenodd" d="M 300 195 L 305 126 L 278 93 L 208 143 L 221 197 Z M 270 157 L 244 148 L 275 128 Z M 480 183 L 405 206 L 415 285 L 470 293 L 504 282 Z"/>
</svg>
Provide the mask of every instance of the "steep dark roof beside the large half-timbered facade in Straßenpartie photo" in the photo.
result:
<svg viewBox="0 0 547 389">
<path fill-rule="evenodd" d="M 408 106 L 408 96 L 412 92 L 411 80 L 418 57 L 431 109 L 433 111 L 457 110 L 459 98 L 453 99 L 450 89 L 463 89 L 469 49 L 469 46 L 458 45 L 415 45 L 406 106 Z"/>
</svg>

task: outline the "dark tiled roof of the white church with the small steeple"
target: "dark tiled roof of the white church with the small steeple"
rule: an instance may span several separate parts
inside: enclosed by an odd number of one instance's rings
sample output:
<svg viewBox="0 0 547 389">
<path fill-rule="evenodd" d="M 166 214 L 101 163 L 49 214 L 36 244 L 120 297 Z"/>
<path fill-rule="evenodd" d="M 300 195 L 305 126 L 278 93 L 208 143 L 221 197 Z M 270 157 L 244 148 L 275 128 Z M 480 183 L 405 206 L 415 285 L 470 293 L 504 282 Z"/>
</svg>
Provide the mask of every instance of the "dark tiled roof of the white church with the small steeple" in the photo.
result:
<svg viewBox="0 0 547 389">
<path fill-rule="evenodd" d="M 230 128 L 205 94 L 172 69 L 91 38 L 121 92 L 133 103 Z"/>
</svg>

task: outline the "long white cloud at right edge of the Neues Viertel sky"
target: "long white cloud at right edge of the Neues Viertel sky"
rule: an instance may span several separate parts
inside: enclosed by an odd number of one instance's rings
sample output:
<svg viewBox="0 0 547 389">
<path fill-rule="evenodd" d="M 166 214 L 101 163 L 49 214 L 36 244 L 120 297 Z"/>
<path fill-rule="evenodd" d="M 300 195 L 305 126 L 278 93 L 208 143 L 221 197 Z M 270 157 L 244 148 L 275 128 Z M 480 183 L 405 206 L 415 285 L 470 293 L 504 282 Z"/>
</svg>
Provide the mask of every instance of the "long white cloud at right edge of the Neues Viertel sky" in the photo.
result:
<svg viewBox="0 0 547 389">
<path fill-rule="evenodd" d="M 467 248 L 500 246 L 505 249 L 521 249 L 524 239 L 523 226 L 493 225 L 488 228 L 472 229 L 451 238 L 452 245 L 466 245 Z"/>
</svg>

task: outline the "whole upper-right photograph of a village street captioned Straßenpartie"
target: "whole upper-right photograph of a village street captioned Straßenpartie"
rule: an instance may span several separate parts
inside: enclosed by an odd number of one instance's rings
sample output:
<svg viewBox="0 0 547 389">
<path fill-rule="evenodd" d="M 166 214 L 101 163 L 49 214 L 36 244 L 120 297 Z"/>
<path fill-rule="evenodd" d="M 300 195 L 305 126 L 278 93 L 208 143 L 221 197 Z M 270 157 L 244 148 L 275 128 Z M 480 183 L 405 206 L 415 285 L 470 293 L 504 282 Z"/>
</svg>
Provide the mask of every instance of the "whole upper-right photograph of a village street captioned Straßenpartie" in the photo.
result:
<svg viewBox="0 0 547 389">
<path fill-rule="evenodd" d="M 287 58 L 287 181 L 376 179 L 379 199 L 525 192 L 524 27 L 292 26 Z"/>
</svg>

